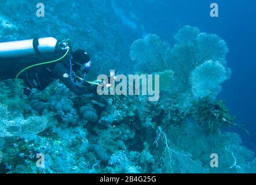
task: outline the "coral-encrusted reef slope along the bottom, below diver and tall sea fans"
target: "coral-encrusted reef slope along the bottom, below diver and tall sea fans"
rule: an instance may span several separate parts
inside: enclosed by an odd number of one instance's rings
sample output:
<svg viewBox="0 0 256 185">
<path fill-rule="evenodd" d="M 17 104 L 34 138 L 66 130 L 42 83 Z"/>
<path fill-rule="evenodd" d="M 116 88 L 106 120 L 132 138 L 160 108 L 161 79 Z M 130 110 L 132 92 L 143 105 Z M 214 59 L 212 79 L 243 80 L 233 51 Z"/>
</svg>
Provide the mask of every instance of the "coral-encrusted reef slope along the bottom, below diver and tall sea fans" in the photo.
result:
<svg viewBox="0 0 256 185">
<path fill-rule="evenodd" d="M 222 119 L 233 121 L 223 102 L 204 99 L 186 109 L 163 98 L 144 102 L 140 97 L 108 96 L 92 101 L 85 95 L 87 101 L 79 105 L 81 97 L 63 91 L 58 83 L 23 101 L 30 106 L 37 97 L 44 105 L 43 111 L 24 112 L 26 119 L 20 114 L 9 121 L 8 109 L 1 104 L 2 173 L 255 172 L 254 153 L 238 135 L 221 132 L 227 123 Z M 21 128 L 14 125 L 12 135 L 6 134 L 6 121 L 16 120 Z M 45 156 L 45 168 L 36 166 L 38 153 Z M 211 153 L 220 156 L 221 168 L 210 167 Z"/>
</svg>

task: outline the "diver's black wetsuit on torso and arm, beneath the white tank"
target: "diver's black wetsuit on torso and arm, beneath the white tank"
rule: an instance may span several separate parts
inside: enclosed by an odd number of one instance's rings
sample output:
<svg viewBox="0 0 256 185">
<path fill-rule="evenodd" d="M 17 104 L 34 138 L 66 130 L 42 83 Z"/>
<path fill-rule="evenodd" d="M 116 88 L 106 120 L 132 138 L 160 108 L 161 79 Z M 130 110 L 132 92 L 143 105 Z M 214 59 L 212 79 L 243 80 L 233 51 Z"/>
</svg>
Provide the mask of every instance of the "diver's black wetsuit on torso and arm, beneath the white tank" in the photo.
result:
<svg viewBox="0 0 256 185">
<path fill-rule="evenodd" d="M 27 66 L 39 64 L 46 61 L 56 60 L 63 56 L 64 53 L 55 54 L 37 54 L 35 56 L 20 58 L 0 58 L 0 79 L 14 79 L 17 73 Z M 75 68 L 75 66 L 74 66 Z M 24 71 L 19 76 L 30 88 L 43 90 L 53 79 L 60 79 L 76 95 L 83 95 L 93 92 L 92 87 L 82 88 L 72 83 L 70 79 L 70 59 L 69 56 L 63 60 L 52 64 L 40 65 Z"/>
</svg>

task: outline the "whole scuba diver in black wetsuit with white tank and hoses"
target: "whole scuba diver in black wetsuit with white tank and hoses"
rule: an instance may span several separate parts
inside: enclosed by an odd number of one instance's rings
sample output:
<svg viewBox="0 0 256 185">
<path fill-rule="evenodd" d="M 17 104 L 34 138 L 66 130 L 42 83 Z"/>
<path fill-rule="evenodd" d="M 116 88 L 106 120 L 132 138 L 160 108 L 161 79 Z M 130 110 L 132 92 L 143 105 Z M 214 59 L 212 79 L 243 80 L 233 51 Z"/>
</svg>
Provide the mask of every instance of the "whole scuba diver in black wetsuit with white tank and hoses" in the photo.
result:
<svg viewBox="0 0 256 185">
<path fill-rule="evenodd" d="M 89 54 L 82 49 L 72 52 L 68 40 L 35 38 L 0 43 L 0 79 L 23 79 L 28 86 L 25 95 L 30 95 L 32 88 L 45 89 L 54 79 L 60 79 L 76 95 L 96 91 L 85 81 L 91 64 Z"/>
</svg>

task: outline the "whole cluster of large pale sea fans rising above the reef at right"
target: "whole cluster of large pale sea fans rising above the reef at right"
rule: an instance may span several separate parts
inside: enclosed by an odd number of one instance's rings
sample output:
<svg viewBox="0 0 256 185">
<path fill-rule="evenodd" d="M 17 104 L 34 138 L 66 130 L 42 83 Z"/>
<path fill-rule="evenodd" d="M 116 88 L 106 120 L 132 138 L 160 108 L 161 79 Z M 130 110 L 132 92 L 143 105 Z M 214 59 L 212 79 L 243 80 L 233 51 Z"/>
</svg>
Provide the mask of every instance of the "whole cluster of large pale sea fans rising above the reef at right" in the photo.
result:
<svg viewBox="0 0 256 185">
<path fill-rule="evenodd" d="M 193 93 L 195 98 L 214 99 L 221 91 L 220 84 L 231 74 L 226 68 L 225 41 L 188 25 L 174 39 L 174 47 L 152 34 L 136 40 L 130 49 L 131 60 L 137 62 L 135 71 L 162 74 L 167 83 L 171 82 L 170 94 Z M 169 79 L 164 75 L 166 70 L 173 73 Z"/>
</svg>

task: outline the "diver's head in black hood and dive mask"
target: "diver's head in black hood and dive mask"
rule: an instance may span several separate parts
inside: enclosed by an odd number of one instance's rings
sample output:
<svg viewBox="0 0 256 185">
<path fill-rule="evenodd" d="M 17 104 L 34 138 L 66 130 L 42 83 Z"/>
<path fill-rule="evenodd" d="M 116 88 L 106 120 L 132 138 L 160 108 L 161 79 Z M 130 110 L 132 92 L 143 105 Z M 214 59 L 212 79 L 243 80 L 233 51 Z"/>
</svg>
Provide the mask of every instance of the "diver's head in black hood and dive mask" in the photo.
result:
<svg viewBox="0 0 256 185">
<path fill-rule="evenodd" d="M 90 65 L 92 62 L 90 61 L 90 56 L 88 53 L 86 53 L 85 50 L 76 50 L 72 54 L 72 59 L 74 63 L 74 69 L 79 69 L 81 68 L 81 71 L 83 73 L 88 73 L 90 69 Z"/>
</svg>

